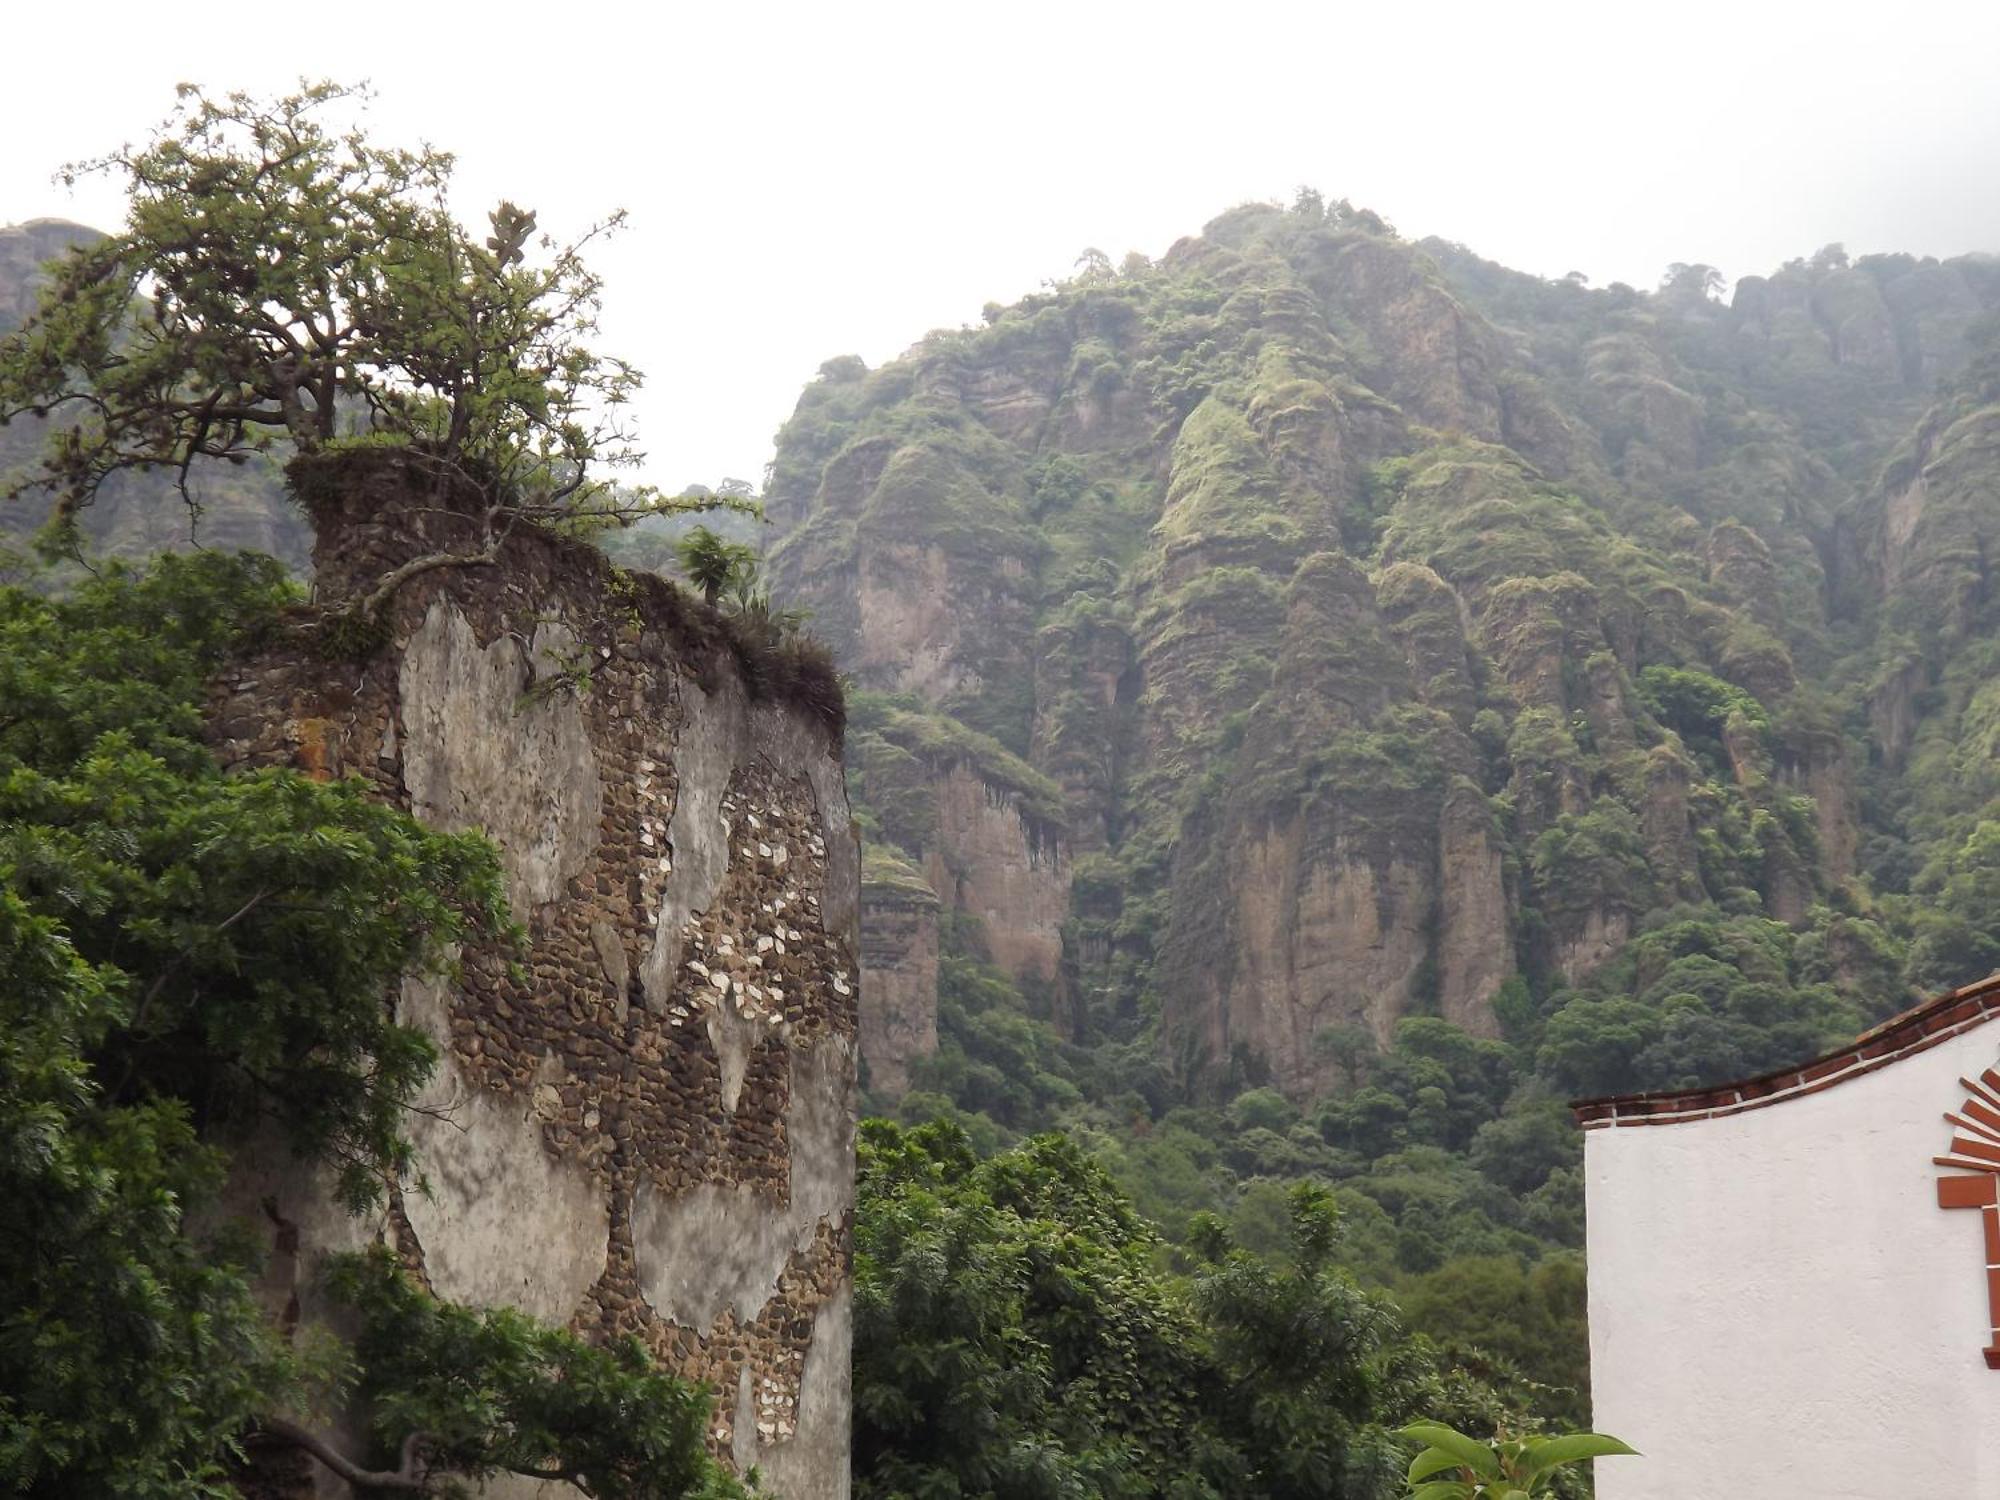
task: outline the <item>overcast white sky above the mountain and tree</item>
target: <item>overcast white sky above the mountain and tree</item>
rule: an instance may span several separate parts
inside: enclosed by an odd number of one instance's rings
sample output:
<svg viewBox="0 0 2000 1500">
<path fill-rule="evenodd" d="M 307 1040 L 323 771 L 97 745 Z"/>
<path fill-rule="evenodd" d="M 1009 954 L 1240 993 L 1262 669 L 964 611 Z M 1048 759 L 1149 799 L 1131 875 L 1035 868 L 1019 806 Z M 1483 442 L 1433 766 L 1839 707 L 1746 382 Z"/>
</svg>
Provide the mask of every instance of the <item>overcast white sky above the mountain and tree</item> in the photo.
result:
<svg viewBox="0 0 2000 1500">
<path fill-rule="evenodd" d="M 178 80 L 372 80 L 384 140 L 576 230 L 624 206 L 604 348 L 652 478 L 758 478 L 822 360 L 978 320 L 1098 246 L 1158 254 L 1310 182 L 1404 234 L 1652 286 L 2000 250 L 2000 0 L 1820 4 L 6 6 L 0 222 L 112 228 L 50 174 Z"/>
</svg>

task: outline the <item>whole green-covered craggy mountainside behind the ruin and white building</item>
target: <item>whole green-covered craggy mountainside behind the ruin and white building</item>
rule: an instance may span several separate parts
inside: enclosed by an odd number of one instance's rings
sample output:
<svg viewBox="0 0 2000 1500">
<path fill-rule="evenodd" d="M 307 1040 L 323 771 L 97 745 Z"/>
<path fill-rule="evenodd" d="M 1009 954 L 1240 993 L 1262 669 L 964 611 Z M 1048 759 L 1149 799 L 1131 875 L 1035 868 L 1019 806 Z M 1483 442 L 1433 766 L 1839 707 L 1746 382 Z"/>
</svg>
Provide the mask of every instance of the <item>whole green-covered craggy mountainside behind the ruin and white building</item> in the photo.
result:
<svg viewBox="0 0 2000 1500">
<path fill-rule="evenodd" d="M 1580 1378 L 1562 1100 L 2000 962 L 2000 260 L 1720 284 L 1308 192 L 830 360 L 766 506 L 876 1106 L 1066 1126 L 1170 1238 L 1344 1184 L 1412 1322 Z"/>
</svg>

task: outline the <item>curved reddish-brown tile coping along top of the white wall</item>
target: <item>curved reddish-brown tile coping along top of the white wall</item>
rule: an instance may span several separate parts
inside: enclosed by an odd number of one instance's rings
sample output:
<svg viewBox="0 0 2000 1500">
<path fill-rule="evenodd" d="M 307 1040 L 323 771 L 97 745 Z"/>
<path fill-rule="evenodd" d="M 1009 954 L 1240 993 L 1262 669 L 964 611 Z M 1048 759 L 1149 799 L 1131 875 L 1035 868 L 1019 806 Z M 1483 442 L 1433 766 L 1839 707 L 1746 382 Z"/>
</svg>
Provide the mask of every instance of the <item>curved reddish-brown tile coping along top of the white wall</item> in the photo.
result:
<svg viewBox="0 0 2000 1500">
<path fill-rule="evenodd" d="M 1876 1068 L 1886 1068 L 1960 1032 L 1970 1032 L 1974 1026 L 1984 1026 L 1996 1014 L 2000 1014 L 2000 974 L 1990 974 L 1978 984 L 1948 990 L 1900 1016 L 1890 1016 L 1874 1030 L 1856 1036 L 1848 1046 L 1794 1068 L 1778 1068 L 1756 1078 L 1708 1088 L 1656 1088 L 1646 1094 L 1584 1098 L 1574 1100 L 1570 1110 L 1584 1130 L 1680 1124 L 1682 1120 L 1712 1120 L 1722 1114 L 1762 1110 L 1768 1104 L 1818 1094 Z"/>
</svg>

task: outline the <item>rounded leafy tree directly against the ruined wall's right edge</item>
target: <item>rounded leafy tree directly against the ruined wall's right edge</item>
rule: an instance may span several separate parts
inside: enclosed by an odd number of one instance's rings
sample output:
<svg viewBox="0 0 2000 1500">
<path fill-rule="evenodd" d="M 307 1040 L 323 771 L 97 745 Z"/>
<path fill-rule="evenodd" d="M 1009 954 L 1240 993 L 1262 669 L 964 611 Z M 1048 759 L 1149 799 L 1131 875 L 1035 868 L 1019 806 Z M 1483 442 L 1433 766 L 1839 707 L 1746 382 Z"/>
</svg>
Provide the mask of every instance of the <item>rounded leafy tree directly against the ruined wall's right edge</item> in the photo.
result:
<svg viewBox="0 0 2000 1500">
<path fill-rule="evenodd" d="M 856 1494 L 1136 1496 L 1190 1474 L 1210 1440 L 1194 1328 L 1102 1168 L 1060 1136 L 978 1162 L 952 1124 L 870 1120 L 858 1196 Z"/>
</svg>

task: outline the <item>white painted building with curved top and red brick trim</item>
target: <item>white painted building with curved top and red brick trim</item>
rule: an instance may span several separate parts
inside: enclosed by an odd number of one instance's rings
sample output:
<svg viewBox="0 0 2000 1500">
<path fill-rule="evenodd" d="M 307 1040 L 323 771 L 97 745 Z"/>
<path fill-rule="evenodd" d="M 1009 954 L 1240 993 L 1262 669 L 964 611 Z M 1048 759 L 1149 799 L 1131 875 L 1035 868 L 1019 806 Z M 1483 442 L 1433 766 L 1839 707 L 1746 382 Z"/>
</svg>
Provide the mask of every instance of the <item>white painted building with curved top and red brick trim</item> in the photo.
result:
<svg viewBox="0 0 2000 1500">
<path fill-rule="evenodd" d="M 1996 1018 L 1576 1106 L 1600 1500 L 2000 1496 Z"/>
</svg>

